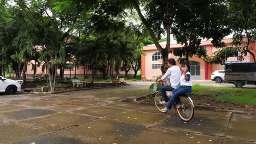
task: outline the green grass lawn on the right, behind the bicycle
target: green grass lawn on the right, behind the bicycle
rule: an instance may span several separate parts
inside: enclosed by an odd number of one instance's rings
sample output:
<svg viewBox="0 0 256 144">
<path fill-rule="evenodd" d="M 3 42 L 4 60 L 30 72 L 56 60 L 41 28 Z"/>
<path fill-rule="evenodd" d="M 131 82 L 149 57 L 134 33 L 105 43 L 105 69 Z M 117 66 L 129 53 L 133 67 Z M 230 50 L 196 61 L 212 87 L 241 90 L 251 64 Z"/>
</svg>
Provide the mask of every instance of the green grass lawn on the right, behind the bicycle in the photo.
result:
<svg viewBox="0 0 256 144">
<path fill-rule="evenodd" d="M 220 102 L 256 106 L 256 88 L 211 87 L 195 84 L 192 94 L 214 96 Z"/>
</svg>

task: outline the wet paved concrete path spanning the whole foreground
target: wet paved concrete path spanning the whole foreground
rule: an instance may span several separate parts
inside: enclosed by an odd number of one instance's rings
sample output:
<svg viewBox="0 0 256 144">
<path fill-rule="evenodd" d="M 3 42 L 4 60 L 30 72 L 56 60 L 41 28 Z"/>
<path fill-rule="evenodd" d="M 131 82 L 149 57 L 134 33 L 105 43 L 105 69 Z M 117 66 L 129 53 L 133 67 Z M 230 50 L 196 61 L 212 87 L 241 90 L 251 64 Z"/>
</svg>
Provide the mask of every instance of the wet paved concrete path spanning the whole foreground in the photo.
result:
<svg viewBox="0 0 256 144">
<path fill-rule="evenodd" d="M 195 111 L 184 123 L 172 110 L 118 102 L 149 83 L 61 94 L 0 96 L 0 143 L 256 143 L 256 116 Z"/>
</svg>

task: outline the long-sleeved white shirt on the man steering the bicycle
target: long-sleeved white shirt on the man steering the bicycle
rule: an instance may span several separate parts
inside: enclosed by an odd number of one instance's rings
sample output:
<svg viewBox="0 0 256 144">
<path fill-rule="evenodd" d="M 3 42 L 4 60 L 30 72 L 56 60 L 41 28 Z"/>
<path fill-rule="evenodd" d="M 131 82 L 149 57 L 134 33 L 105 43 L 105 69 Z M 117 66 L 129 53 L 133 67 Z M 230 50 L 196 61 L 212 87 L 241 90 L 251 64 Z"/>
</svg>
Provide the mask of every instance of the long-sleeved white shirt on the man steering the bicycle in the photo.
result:
<svg viewBox="0 0 256 144">
<path fill-rule="evenodd" d="M 165 81 L 167 77 L 170 76 L 171 86 L 176 89 L 179 87 L 179 78 L 181 75 L 181 69 L 177 65 L 173 65 L 171 68 L 168 68 L 161 79 Z"/>
</svg>

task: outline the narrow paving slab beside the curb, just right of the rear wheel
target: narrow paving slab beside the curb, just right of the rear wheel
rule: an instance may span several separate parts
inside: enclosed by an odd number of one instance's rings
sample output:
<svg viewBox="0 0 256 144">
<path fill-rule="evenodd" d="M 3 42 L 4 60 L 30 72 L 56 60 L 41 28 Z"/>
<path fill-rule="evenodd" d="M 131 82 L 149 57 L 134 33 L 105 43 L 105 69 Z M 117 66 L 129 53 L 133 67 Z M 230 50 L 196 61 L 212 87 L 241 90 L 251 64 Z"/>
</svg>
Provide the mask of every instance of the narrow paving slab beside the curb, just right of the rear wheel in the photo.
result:
<svg viewBox="0 0 256 144">
<path fill-rule="evenodd" d="M 195 117 L 230 119 L 232 112 L 195 110 Z"/>
</svg>

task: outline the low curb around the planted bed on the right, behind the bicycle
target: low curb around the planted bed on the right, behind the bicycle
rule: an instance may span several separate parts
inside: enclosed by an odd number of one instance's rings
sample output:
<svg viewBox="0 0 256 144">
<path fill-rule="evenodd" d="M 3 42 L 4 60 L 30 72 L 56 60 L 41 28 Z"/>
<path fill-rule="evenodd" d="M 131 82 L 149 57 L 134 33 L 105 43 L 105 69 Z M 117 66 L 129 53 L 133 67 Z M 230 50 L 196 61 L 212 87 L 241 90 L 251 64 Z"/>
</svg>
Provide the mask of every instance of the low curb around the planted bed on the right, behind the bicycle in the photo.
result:
<svg viewBox="0 0 256 144">
<path fill-rule="evenodd" d="M 143 95 L 138 98 L 147 97 L 148 95 Z M 137 101 L 138 98 L 132 99 L 132 103 L 134 104 L 143 104 L 143 105 L 155 105 L 154 103 L 145 103 L 141 101 Z M 248 110 L 248 109 L 236 109 L 232 107 L 219 107 L 219 106 L 205 106 L 205 105 L 195 105 L 195 109 L 197 110 L 207 110 L 207 111 L 222 111 L 222 112 L 234 112 L 241 113 L 247 115 L 256 115 L 256 110 Z"/>
</svg>

